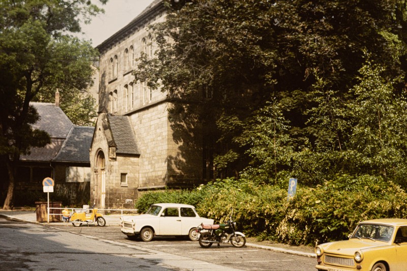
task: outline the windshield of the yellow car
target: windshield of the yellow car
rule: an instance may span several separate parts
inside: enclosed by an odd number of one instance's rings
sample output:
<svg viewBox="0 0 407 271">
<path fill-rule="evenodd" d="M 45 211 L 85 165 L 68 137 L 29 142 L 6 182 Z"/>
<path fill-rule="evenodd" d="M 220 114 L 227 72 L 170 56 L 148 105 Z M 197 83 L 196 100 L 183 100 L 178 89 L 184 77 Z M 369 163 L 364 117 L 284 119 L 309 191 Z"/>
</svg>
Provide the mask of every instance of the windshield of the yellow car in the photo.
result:
<svg viewBox="0 0 407 271">
<path fill-rule="evenodd" d="M 389 242 L 393 234 L 393 227 L 377 224 L 360 224 L 351 238 L 371 239 Z"/>
</svg>

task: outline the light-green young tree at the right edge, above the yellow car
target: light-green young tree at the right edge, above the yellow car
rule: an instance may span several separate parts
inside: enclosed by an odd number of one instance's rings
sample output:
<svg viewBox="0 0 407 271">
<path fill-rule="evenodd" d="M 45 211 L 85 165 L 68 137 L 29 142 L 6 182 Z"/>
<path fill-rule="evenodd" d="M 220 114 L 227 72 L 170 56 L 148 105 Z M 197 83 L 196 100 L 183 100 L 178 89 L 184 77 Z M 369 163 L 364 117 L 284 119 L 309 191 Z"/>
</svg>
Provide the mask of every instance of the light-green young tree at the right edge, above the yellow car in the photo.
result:
<svg viewBox="0 0 407 271">
<path fill-rule="evenodd" d="M 360 69 L 360 82 L 352 89 L 349 104 L 354 114 L 350 145 L 360 154 L 359 170 L 390 178 L 403 187 L 407 173 L 407 99 L 405 89 L 394 87 L 400 77 L 388 78 L 386 69 L 367 58 Z"/>
</svg>

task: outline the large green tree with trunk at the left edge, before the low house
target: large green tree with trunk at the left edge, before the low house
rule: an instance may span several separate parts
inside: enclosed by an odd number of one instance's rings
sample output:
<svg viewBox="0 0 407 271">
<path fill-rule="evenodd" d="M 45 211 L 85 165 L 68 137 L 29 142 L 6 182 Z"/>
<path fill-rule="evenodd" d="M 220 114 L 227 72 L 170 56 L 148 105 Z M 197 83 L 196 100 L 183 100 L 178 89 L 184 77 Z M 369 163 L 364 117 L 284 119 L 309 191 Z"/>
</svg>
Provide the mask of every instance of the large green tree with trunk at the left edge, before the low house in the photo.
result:
<svg viewBox="0 0 407 271">
<path fill-rule="evenodd" d="M 0 2 L 0 155 L 8 169 L 2 181 L 9 180 L 4 209 L 13 206 L 20 154 L 49 142 L 46 133 L 31 126 L 38 114 L 30 102 L 53 95 L 56 88 L 85 89 L 92 83 L 97 52 L 72 33 L 102 11 L 87 0 Z"/>
</svg>

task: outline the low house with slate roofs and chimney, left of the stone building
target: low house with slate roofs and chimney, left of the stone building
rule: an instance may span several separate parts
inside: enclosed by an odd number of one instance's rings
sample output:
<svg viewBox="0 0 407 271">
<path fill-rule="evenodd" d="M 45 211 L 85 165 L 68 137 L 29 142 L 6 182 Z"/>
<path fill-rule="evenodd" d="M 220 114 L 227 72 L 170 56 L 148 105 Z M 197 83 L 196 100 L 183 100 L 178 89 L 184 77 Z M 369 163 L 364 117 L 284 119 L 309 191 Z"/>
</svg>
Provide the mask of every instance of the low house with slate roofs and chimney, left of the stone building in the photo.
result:
<svg viewBox="0 0 407 271">
<path fill-rule="evenodd" d="M 21 155 L 16 178 L 16 204 L 22 204 L 27 197 L 25 193 L 43 193 L 45 177 L 54 180 L 52 196 L 65 199 L 70 205 L 88 204 L 89 149 L 94 127 L 74 126 L 57 102 L 31 104 L 40 115 L 34 128 L 46 131 L 51 142 L 42 148 L 31 148 L 28 155 Z"/>
</svg>

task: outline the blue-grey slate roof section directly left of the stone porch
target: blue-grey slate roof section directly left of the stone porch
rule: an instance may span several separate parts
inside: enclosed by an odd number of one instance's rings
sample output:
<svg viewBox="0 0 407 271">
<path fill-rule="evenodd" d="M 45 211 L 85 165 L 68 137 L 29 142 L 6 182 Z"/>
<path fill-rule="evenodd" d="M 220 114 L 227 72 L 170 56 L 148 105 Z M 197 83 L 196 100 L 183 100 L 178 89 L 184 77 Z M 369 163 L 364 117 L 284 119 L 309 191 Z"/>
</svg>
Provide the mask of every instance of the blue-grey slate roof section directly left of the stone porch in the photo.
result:
<svg viewBox="0 0 407 271">
<path fill-rule="evenodd" d="M 72 126 L 60 152 L 52 161 L 90 163 L 89 149 L 95 127 Z"/>
</svg>

